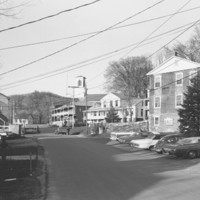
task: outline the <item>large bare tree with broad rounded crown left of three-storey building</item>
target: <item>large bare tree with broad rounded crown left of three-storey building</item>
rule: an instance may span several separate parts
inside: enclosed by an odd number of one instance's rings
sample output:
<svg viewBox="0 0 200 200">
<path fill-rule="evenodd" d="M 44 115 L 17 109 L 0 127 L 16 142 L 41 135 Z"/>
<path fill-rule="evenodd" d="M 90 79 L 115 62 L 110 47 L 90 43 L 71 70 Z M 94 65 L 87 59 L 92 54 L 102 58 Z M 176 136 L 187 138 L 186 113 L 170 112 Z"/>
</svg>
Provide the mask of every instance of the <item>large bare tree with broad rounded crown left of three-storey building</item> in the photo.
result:
<svg viewBox="0 0 200 200">
<path fill-rule="evenodd" d="M 124 96 L 129 107 L 130 120 L 132 119 L 133 98 L 144 97 L 148 87 L 146 74 L 151 69 L 151 61 L 141 56 L 114 61 L 106 70 L 106 90 Z"/>
</svg>

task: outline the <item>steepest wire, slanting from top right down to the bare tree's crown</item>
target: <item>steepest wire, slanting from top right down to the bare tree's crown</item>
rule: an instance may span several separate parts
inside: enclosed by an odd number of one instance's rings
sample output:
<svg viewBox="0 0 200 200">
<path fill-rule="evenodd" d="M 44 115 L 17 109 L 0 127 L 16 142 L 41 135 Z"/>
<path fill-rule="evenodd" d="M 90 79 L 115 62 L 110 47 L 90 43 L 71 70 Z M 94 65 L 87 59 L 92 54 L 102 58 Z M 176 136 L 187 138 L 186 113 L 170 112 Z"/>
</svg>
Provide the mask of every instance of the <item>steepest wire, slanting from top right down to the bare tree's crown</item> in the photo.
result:
<svg viewBox="0 0 200 200">
<path fill-rule="evenodd" d="M 145 40 L 151 37 L 156 31 L 158 31 L 162 26 L 164 26 L 172 17 L 174 17 L 180 10 L 182 10 L 187 4 L 189 4 L 192 0 L 187 1 L 183 6 L 181 6 L 173 15 L 171 15 L 167 20 L 165 20 L 162 24 L 160 24 L 156 29 L 154 29 L 149 35 L 147 35 L 136 47 L 132 48 L 128 53 L 124 56 L 127 56 L 134 49 L 136 49 L 140 44 L 142 44 Z"/>
</svg>

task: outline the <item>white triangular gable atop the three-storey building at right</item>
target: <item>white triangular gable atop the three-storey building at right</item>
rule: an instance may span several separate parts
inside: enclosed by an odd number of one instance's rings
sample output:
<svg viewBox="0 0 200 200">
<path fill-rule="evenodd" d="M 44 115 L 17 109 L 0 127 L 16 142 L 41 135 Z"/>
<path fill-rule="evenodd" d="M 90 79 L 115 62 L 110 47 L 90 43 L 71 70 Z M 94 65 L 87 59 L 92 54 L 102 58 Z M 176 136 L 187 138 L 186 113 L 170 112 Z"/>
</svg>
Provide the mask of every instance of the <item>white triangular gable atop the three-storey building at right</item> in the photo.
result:
<svg viewBox="0 0 200 200">
<path fill-rule="evenodd" d="M 147 76 L 196 69 L 199 67 L 200 67 L 200 63 L 193 62 L 185 58 L 172 56 L 171 58 L 163 62 L 161 65 L 159 65 L 158 67 L 148 72 Z"/>
</svg>

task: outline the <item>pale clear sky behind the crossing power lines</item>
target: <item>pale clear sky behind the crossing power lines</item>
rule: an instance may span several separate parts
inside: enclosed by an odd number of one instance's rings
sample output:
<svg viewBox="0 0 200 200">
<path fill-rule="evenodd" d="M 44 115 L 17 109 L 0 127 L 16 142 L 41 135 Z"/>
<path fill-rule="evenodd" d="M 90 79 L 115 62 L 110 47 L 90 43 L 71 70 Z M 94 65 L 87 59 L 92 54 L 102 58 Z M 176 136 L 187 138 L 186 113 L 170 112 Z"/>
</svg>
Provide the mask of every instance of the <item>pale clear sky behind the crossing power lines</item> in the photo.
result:
<svg viewBox="0 0 200 200">
<path fill-rule="evenodd" d="M 16 5 L 16 1 L 13 2 Z M 0 31 L 92 2 L 95 0 L 33 0 L 20 8 L 15 18 L 1 17 Z M 68 86 L 76 85 L 77 76 L 84 76 L 88 93 L 105 93 L 104 72 L 109 62 L 127 56 L 151 55 L 183 29 L 154 40 L 145 39 L 199 20 L 200 8 L 196 7 L 200 7 L 199 0 L 100 0 L 40 22 L 0 32 L 0 92 L 9 96 L 37 90 L 71 96 Z M 151 20 L 191 8 L 196 9 Z M 95 35 L 98 31 L 102 32 Z M 188 30 L 176 41 L 186 41 L 192 31 Z M 27 45 L 33 43 L 39 44 Z M 118 51 L 135 43 L 140 45 Z M 16 47 L 21 45 L 26 46 Z M 7 47 L 13 48 L 5 49 Z M 108 54 L 114 51 L 117 53 Z M 54 52 L 59 53 L 49 56 Z M 106 57 L 101 57 L 103 55 Z"/>
</svg>

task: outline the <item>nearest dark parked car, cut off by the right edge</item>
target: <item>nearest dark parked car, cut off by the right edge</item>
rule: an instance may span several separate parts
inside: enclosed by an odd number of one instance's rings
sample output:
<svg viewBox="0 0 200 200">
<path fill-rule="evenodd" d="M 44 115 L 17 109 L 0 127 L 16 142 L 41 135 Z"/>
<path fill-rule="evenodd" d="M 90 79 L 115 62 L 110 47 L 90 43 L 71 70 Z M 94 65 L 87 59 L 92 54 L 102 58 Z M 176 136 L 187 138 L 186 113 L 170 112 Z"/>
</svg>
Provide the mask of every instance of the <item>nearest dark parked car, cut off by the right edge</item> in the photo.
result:
<svg viewBox="0 0 200 200">
<path fill-rule="evenodd" d="M 183 158 L 196 158 L 200 156 L 200 137 L 190 137 L 179 140 L 175 144 L 166 145 L 163 153 Z"/>
</svg>

